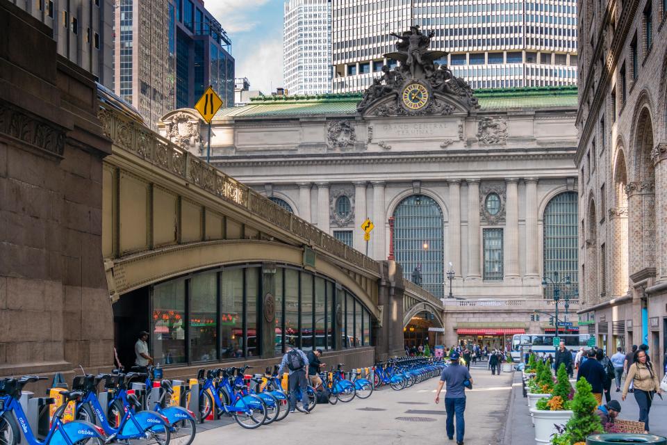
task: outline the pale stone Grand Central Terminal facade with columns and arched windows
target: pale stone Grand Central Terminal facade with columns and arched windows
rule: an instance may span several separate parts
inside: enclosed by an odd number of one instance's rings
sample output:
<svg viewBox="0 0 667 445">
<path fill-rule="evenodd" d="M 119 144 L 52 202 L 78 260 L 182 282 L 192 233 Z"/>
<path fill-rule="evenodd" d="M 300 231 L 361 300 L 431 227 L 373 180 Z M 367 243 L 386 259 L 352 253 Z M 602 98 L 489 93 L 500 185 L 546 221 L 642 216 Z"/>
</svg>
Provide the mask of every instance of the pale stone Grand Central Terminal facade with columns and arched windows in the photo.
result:
<svg viewBox="0 0 667 445">
<path fill-rule="evenodd" d="M 445 300 L 447 343 L 477 315 L 471 329 L 543 332 L 554 313 L 545 273 L 569 275 L 570 311 L 577 305 L 578 217 L 570 214 L 570 233 L 559 237 L 547 211 L 577 211 L 575 95 L 569 87 L 479 91 L 480 108 L 422 115 L 381 104 L 359 112 L 361 95 L 253 99 L 214 118 L 211 162 L 374 259 L 396 259 L 407 280 L 438 298 L 448 296 L 453 270 L 452 295 L 467 300 Z M 158 126 L 166 135 L 174 115 L 196 113 L 174 111 Z M 530 322 L 534 311 L 541 323 Z"/>
</svg>

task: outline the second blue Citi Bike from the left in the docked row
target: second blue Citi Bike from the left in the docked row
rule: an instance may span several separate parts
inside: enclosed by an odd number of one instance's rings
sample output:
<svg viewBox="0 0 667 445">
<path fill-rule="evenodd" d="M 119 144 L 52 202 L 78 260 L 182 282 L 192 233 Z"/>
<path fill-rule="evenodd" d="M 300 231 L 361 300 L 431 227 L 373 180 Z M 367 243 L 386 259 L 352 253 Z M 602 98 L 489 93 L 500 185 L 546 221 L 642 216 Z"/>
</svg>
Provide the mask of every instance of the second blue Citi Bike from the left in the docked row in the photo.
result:
<svg viewBox="0 0 667 445">
<path fill-rule="evenodd" d="M 83 397 L 76 404 L 77 419 L 92 421 L 97 417 L 100 426 L 111 440 L 146 439 L 149 444 L 167 445 L 171 439 L 170 423 L 167 417 L 155 411 L 139 411 L 141 403 L 134 394 L 128 394 L 125 375 L 117 375 L 118 387 L 110 401 L 110 417 L 97 398 L 97 385 L 101 376 L 80 375 L 74 378 L 72 387 L 81 390 Z M 122 408 L 118 405 L 121 401 Z M 110 421 L 111 419 L 111 421 Z"/>
</svg>

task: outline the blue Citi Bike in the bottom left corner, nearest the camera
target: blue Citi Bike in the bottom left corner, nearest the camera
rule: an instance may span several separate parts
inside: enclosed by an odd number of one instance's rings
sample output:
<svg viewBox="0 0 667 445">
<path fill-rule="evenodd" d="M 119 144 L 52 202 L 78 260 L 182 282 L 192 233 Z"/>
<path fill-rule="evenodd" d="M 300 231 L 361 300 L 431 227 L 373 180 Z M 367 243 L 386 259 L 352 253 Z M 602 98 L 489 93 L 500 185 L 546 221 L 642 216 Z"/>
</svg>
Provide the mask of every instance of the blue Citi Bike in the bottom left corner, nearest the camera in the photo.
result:
<svg viewBox="0 0 667 445">
<path fill-rule="evenodd" d="M 83 396 L 78 391 L 63 391 L 65 403 L 56 410 L 51 428 L 43 442 L 38 440 L 26 414 L 19 403 L 23 387 L 31 382 L 46 380 L 45 377 L 26 375 L 25 377 L 5 378 L 0 380 L 0 442 L 3 445 L 16 445 L 21 440 L 21 430 L 28 445 L 104 445 L 104 431 L 84 421 L 63 423 L 60 417 L 70 401 L 77 401 Z M 53 399 L 50 401 L 53 403 Z M 14 414 L 14 415 L 12 415 Z M 18 421 L 18 423 L 17 423 Z M 20 429 L 19 429 L 20 424 Z"/>
</svg>

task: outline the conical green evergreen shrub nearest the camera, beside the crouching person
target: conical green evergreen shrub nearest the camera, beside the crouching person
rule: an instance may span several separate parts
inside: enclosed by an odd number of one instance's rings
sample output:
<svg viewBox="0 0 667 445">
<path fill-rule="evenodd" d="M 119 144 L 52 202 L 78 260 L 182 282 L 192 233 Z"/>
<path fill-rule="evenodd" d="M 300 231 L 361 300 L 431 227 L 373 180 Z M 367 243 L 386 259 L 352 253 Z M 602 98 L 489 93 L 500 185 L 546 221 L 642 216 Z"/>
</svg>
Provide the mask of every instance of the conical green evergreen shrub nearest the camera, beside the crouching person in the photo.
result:
<svg viewBox="0 0 667 445">
<path fill-rule="evenodd" d="M 564 427 L 554 428 L 556 431 L 551 438 L 552 445 L 585 445 L 586 437 L 603 431 L 600 417 L 595 414 L 598 401 L 593 396 L 591 385 L 582 378 L 577 382 L 576 389 L 571 403 L 573 415 Z M 549 443 L 538 442 L 537 439 L 535 442 Z"/>
</svg>

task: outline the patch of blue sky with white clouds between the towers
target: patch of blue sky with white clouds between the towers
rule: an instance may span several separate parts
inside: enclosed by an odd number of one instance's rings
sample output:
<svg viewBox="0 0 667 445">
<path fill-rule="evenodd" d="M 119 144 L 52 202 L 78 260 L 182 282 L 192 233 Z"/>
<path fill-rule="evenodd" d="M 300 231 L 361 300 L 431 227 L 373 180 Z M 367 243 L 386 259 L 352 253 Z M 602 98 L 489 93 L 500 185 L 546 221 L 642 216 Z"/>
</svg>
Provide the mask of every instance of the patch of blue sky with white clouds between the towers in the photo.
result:
<svg viewBox="0 0 667 445">
<path fill-rule="evenodd" d="M 283 86 L 283 0 L 204 0 L 227 30 L 236 77 L 270 94 Z"/>
</svg>

